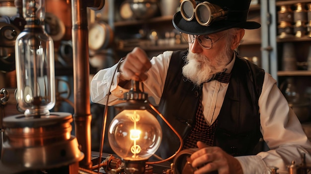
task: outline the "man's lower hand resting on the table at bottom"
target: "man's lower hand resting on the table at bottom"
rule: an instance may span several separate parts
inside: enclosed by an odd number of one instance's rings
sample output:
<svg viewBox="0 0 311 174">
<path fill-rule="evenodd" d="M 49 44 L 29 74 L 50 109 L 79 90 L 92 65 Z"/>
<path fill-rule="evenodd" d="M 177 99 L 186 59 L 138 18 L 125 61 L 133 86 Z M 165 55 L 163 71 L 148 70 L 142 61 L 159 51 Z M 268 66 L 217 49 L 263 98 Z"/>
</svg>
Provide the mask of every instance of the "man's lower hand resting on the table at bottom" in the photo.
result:
<svg viewBox="0 0 311 174">
<path fill-rule="evenodd" d="M 192 167 L 198 168 L 194 174 L 243 174 L 238 160 L 227 154 L 220 147 L 211 147 L 201 141 L 197 142 L 199 150 L 191 155 Z"/>
</svg>

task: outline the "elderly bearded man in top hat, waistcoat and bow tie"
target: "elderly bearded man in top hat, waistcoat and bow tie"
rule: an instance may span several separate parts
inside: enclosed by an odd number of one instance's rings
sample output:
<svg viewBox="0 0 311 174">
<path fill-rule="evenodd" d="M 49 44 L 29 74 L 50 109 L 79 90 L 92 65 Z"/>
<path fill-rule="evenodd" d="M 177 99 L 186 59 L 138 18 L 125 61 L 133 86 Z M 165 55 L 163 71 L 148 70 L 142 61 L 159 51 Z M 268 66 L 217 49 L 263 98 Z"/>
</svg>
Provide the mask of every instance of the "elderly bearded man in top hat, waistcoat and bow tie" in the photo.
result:
<svg viewBox="0 0 311 174">
<path fill-rule="evenodd" d="M 276 80 L 234 51 L 244 29 L 250 0 L 183 0 L 174 27 L 189 43 L 185 51 L 166 51 L 151 60 L 135 48 L 117 65 L 100 70 L 91 82 L 91 99 L 119 103 L 129 80 L 143 81 L 159 111 L 183 137 L 195 174 L 288 173 L 292 160 L 311 163 L 311 143 L 278 89 Z M 112 82 L 110 91 L 109 86 Z M 167 158 L 179 140 L 165 125 L 157 155 Z M 260 152 L 264 140 L 269 147 Z"/>
</svg>

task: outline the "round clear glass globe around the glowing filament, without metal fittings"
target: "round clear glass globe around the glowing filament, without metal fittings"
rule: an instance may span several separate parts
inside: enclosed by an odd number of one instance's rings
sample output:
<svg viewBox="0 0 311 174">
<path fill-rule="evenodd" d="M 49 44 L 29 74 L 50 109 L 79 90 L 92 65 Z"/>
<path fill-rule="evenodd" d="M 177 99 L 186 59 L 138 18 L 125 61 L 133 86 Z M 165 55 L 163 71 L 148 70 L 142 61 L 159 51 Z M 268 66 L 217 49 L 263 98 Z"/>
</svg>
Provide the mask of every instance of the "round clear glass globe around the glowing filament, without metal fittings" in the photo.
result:
<svg viewBox="0 0 311 174">
<path fill-rule="evenodd" d="M 162 130 L 147 110 L 123 110 L 111 121 L 108 131 L 112 150 L 123 160 L 148 160 L 158 149 Z"/>
</svg>

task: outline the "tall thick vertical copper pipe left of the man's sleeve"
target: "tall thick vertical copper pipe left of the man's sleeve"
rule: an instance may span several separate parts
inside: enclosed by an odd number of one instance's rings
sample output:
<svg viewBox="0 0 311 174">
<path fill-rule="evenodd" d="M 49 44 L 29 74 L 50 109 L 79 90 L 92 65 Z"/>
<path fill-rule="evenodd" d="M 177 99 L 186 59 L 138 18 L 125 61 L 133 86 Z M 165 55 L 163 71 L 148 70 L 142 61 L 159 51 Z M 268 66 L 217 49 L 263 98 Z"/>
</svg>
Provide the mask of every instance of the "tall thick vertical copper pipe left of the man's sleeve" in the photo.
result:
<svg viewBox="0 0 311 174">
<path fill-rule="evenodd" d="M 75 132 L 84 158 L 81 168 L 91 169 L 91 113 L 89 92 L 89 55 L 87 6 L 101 9 L 105 0 L 72 0 L 72 40 L 74 64 Z"/>
</svg>

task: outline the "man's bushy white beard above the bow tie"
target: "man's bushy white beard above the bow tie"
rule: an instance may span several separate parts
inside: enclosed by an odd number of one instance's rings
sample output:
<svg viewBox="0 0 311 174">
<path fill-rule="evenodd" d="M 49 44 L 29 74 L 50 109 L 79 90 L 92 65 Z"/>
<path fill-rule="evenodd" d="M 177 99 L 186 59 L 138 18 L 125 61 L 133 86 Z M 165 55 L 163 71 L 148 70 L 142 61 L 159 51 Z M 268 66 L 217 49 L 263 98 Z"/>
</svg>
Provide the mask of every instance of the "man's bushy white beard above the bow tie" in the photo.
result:
<svg viewBox="0 0 311 174">
<path fill-rule="evenodd" d="M 229 44 L 226 44 L 215 58 L 206 58 L 202 54 L 194 54 L 189 51 L 186 65 L 182 68 L 182 74 L 196 86 L 200 86 L 216 73 L 224 71 L 231 59 L 232 51 Z"/>
</svg>

